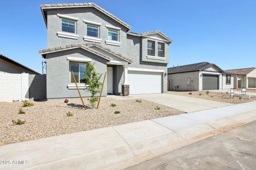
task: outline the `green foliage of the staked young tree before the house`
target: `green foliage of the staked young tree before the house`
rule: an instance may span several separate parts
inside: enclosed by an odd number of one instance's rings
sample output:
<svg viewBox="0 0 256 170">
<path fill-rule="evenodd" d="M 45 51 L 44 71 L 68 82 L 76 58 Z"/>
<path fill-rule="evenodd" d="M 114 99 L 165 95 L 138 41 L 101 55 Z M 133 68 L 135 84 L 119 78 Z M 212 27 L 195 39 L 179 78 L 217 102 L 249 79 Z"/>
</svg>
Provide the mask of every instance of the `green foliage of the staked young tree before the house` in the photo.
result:
<svg viewBox="0 0 256 170">
<path fill-rule="evenodd" d="M 92 94 L 90 96 L 90 104 L 92 107 L 95 106 L 96 102 L 98 101 L 98 97 L 96 94 L 100 92 L 100 88 L 102 83 L 100 82 L 102 74 L 96 72 L 94 65 L 91 62 L 86 63 L 86 76 L 85 80 L 86 83 L 89 85 L 88 91 Z"/>
</svg>

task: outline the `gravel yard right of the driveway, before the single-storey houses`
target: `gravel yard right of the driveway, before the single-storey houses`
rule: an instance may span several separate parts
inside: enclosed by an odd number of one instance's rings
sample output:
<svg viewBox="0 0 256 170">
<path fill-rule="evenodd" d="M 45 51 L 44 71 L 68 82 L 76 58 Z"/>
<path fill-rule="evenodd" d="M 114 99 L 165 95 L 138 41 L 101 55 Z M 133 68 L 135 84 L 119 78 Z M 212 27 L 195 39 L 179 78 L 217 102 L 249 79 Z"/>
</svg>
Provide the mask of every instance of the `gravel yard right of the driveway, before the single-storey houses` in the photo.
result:
<svg viewBox="0 0 256 170">
<path fill-rule="evenodd" d="M 171 95 L 180 95 L 180 96 L 188 96 L 188 97 L 195 97 L 199 99 L 206 99 L 206 100 L 213 100 L 213 101 L 220 101 L 224 103 L 232 103 L 232 104 L 240 104 L 240 103 L 246 103 L 249 101 L 256 100 L 256 96 L 251 96 L 251 99 L 248 99 L 248 96 L 242 96 L 240 99 L 239 96 L 236 96 L 230 99 L 230 94 L 225 94 L 222 92 L 213 92 L 210 91 L 209 94 L 207 94 L 206 91 L 192 91 L 192 94 L 189 95 L 189 92 L 177 92 L 177 91 L 168 91 L 168 94 Z"/>
</svg>

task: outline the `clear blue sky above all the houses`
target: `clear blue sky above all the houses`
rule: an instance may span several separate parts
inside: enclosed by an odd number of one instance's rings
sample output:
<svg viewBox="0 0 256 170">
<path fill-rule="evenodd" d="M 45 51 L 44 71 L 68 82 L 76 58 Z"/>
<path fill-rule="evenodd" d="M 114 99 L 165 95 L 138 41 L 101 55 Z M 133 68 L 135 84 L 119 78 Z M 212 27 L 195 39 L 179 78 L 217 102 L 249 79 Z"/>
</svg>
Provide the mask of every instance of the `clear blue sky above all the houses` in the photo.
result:
<svg viewBox="0 0 256 170">
<path fill-rule="evenodd" d="M 47 48 L 44 3 L 2 1 L 0 53 L 41 73 L 38 50 Z M 174 40 L 168 66 L 208 61 L 221 69 L 256 66 L 256 1 L 89 1 L 131 25 L 132 32 L 159 29 Z"/>
</svg>

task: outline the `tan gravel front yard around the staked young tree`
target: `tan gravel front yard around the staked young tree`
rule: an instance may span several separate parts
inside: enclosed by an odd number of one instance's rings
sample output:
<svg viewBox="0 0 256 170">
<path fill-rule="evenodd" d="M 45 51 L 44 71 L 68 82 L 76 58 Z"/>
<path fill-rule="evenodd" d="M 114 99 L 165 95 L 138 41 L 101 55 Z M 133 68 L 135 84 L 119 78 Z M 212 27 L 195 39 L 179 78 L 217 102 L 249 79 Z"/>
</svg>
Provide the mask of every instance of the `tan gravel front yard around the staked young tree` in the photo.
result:
<svg viewBox="0 0 256 170">
<path fill-rule="evenodd" d="M 85 111 L 81 109 L 80 99 L 70 99 L 68 104 L 64 100 L 50 100 L 34 102 L 32 107 L 23 107 L 25 114 L 18 114 L 21 102 L 0 102 L 0 145 L 184 113 L 150 101 L 141 101 L 138 103 L 135 99 L 104 97 L 99 109 Z M 111 107 L 112 103 L 117 106 Z M 160 109 L 156 110 L 156 107 Z M 115 114 L 115 111 L 120 113 Z M 67 117 L 68 112 L 73 113 L 73 116 Z M 26 120 L 25 124 L 13 125 L 12 120 L 18 119 Z"/>
</svg>

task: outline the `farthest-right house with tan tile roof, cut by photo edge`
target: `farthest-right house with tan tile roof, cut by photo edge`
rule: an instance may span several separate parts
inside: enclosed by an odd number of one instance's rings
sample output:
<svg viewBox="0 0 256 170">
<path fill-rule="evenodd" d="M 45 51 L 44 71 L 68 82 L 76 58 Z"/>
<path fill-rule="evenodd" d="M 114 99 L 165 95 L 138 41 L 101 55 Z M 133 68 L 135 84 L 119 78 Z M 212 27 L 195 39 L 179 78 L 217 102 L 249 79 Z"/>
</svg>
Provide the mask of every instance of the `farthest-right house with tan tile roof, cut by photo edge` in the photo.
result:
<svg viewBox="0 0 256 170">
<path fill-rule="evenodd" d="M 227 73 L 236 74 L 234 88 L 256 88 L 256 68 L 226 70 Z"/>
</svg>

